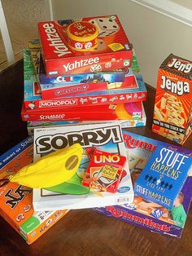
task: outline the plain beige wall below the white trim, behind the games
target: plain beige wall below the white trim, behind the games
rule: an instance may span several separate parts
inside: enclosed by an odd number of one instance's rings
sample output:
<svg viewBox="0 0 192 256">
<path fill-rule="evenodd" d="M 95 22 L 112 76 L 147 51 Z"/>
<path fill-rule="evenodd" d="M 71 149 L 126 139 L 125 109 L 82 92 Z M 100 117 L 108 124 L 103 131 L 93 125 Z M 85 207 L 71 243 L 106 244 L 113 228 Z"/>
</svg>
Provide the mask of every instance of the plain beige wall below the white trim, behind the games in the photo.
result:
<svg viewBox="0 0 192 256">
<path fill-rule="evenodd" d="M 170 53 L 192 60 L 192 27 L 137 3 L 129 0 L 52 0 L 52 7 L 54 20 L 117 14 L 133 43 L 143 78 L 151 86 L 156 86 L 159 65 Z"/>
</svg>

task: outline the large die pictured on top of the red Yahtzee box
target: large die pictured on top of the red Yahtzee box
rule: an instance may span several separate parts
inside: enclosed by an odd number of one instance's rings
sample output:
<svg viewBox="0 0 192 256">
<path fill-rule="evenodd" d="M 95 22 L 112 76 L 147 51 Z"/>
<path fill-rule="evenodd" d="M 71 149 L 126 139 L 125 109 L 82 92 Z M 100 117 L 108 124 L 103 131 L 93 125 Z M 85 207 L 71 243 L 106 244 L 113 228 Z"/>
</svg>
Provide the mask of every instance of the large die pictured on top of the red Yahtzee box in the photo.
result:
<svg viewBox="0 0 192 256">
<path fill-rule="evenodd" d="M 114 18 L 111 16 L 109 18 L 89 20 L 89 22 L 98 27 L 98 37 L 108 37 L 120 29 Z"/>
</svg>

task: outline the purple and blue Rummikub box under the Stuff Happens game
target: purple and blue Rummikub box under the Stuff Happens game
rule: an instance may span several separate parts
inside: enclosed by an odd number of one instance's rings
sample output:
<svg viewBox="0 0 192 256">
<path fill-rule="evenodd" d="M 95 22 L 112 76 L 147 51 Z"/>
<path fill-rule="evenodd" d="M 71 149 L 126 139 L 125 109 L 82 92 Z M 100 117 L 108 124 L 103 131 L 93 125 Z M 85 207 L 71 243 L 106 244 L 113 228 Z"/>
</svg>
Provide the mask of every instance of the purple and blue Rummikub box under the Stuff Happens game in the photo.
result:
<svg viewBox="0 0 192 256">
<path fill-rule="evenodd" d="M 152 152 L 158 146 L 174 149 L 192 157 L 192 151 L 169 143 L 164 143 L 155 139 L 146 138 L 123 130 L 124 143 L 127 157 L 129 159 L 129 170 L 131 173 L 133 186 L 146 166 Z M 132 204 L 111 205 L 107 207 L 94 208 L 95 211 L 109 217 L 121 219 L 124 222 L 132 223 L 137 227 L 143 227 L 151 232 L 181 237 L 181 232 L 185 227 L 185 220 L 190 210 L 192 198 L 192 170 L 178 195 L 175 206 L 168 210 L 163 206 L 151 204 L 142 196 L 134 196 Z"/>
</svg>

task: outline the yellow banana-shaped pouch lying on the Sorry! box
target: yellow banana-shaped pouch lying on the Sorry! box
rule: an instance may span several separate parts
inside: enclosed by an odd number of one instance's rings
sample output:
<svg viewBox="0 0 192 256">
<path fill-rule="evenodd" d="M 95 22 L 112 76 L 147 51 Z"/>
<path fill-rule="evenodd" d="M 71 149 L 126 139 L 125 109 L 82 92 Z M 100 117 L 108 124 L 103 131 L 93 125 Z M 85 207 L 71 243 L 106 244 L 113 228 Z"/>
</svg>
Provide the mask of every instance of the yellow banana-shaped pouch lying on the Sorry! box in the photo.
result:
<svg viewBox="0 0 192 256">
<path fill-rule="evenodd" d="M 41 157 L 11 175 L 11 182 L 30 188 L 49 188 L 71 179 L 81 163 L 83 149 L 79 143 Z"/>
</svg>

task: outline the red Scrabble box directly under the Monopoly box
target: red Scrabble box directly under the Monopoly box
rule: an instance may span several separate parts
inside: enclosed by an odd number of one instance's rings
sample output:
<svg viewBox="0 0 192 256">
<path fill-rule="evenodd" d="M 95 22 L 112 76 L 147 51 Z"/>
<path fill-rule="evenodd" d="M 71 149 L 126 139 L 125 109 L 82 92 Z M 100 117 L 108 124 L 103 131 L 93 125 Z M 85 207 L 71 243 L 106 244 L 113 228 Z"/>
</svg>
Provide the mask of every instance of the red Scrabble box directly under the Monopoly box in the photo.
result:
<svg viewBox="0 0 192 256">
<path fill-rule="evenodd" d="M 23 121 L 96 121 L 142 119 L 142 102 L 98 105 L 79 108 L 21 110 Z"/>
</svg>

